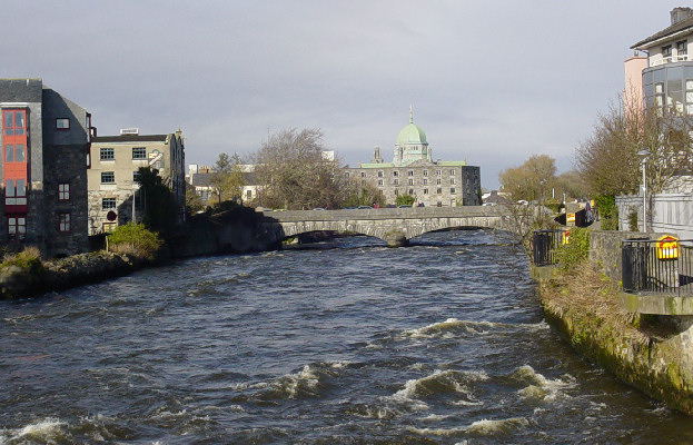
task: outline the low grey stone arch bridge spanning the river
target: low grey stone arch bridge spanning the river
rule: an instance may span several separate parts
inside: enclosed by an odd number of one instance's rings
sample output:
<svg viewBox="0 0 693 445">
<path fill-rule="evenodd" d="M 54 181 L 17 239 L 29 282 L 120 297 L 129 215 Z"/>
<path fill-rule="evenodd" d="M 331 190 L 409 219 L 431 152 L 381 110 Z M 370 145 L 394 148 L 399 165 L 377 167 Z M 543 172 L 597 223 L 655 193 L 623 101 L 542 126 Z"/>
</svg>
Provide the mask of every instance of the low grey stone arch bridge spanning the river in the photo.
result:
<svg viewBox="0 0 693 445">
<path fill-rule="evenodd" d="M 462 206 L 264 211 L 260 231 L 273 241 L 309 231 L 350 231 L 398 247 L 415 236 L 447 228 L 509 230 L 524 225 L 533 210 L 527 206 Z"/>
</svg>

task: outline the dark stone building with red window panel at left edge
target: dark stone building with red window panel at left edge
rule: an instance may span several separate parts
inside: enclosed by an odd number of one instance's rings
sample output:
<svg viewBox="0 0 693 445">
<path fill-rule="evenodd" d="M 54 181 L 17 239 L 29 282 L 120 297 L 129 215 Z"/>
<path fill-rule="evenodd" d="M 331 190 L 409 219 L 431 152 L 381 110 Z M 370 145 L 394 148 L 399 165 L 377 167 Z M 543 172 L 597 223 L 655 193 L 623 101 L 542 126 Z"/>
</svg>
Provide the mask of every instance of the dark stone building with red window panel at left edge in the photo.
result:
<svg viewBox="0 0 693 445">
<path fill-rule="evenodd" d="M 0 244 L 44 257 L 86 251 L 91 115 L 41 79 L 0 79 Z"/>
</svg>

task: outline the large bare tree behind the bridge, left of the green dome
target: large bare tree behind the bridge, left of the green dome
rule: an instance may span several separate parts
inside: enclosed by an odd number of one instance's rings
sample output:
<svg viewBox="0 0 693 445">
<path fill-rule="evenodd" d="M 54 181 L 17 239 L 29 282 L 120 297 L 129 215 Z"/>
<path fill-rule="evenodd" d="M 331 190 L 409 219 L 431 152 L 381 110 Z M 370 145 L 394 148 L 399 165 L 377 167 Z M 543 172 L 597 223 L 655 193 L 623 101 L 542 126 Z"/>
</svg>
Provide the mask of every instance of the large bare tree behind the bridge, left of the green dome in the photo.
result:
<svg viewBox="0 0 693 445">
<path fill-rule="evenodd" d="M 339 159 L 329 159 L 324 151 L 319 129 L 291 128 L 269 136 L 255 157 L 255 176 L 261 185 L 259 205 L 286 209 L 341 207 L 352 186 Z"/>
</svg>

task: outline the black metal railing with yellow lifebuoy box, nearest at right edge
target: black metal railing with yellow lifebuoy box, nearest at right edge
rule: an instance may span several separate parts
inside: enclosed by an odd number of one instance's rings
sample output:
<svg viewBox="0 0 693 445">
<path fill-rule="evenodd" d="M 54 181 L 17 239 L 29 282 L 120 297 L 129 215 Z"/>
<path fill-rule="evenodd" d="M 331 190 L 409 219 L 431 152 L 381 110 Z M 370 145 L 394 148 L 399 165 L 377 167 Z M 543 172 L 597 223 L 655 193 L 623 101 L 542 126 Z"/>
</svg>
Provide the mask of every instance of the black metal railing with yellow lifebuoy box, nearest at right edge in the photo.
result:
<svg viewBox="0 0 693 445">
<path fill-rule="evenodd" d="M 625 239 L 621 247 L 623 291 L 693 294 L 693 240 Z"/>
</svg>

